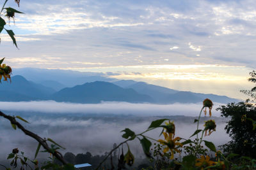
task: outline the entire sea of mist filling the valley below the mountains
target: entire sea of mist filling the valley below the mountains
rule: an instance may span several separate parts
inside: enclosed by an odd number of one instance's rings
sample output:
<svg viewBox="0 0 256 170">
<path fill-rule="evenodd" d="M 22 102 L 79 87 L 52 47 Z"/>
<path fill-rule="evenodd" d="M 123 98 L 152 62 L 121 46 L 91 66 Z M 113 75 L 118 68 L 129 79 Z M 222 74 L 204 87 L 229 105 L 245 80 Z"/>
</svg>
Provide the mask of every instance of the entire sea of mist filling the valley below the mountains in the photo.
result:
<svg viewBox="0 0 256 170">
<path fill-rule="evenodd" d="M 221 118 L 215 109 L 221 104 L 214 104 L 213 119 L 216 120 L 217 129 L 205 139 L 213 141 L 216 146 L 223 145 L 230 140 L 225 133 L 226 118 Z M 19 115 L 28 120 L 29 124 L 21 122 L 24 127 L 41 137 L 54 139 L 66 149 L 61 153 L 72 152 L 104 154 L 113 148 L 114 143 L 124 141 L 123 129 L 130 128 L 139 133 L 147 129 L 152 120 L 170 118 L 176 125 L 176 134 L 182 138 L 189 138 L 196 129 L 194 119 L 202 108 L 198 104 L 132 104 L 132 103 L 100 103 L 100 104 L 74 104 L 56 103 L 54 101 L 31 102 L 0 102 L 1 111 L 8 115 Z M 203 128 L 204 117 L 200 124 Z M 6 160 L 13 148 L 19 148 L 33 159 L 36 143 L 22 131 L 12 129 L 10 122 L 0 118 L 0 162 Z M 161 129 L 148 132 L 147 136 L 159 139 Z M 138 140 L 129 143 L 132 152 L 143 157 Z M 47 153 L 39 153 L 38 157 L 47 157 Z"/>
</svg>

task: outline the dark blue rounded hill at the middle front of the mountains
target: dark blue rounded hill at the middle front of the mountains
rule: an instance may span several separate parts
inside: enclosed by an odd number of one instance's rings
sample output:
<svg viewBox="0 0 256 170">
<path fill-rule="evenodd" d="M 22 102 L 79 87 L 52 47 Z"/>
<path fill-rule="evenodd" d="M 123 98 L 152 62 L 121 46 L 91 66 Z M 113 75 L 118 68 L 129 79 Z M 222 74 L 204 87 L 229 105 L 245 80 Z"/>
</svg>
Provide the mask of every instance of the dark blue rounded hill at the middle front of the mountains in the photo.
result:
<svg viewBox="0 0 256 170">
<path fill-rule="evenodd" d="M 125 101 L 129 103 L 153 103 L 152 97 L 139 94 L 133 89 L 124 89 L 113 83 L 95 81 L 65 88 L 52 94 L 51 99 L 72 103 L 100 103 L 101 101 Z"/>
</svg>

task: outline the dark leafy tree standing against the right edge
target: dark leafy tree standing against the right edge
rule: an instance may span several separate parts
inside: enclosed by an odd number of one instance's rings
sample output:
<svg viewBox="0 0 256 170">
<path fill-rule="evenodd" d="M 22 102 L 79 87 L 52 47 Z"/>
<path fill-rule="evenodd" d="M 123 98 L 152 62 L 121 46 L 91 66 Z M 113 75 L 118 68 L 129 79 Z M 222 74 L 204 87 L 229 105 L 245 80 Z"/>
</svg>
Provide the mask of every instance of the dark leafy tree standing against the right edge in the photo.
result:
<svg viewBox="0 0 256 170">
<path fill-rule="evenodd" d="M 250 72 L 248 81 L 256 83 L 256 72 Z M 251 90 L 241 90 L 244 94 L 256 99 L 256 86 Z M 237 153 L 256 159 L 256 106 L 250 99 L 240 103 L 229 103 L 217 110 L 221 117 L 230 117 L 225 130 L 232 141 L 223 145 L 225 152 Z"/>
</svg>

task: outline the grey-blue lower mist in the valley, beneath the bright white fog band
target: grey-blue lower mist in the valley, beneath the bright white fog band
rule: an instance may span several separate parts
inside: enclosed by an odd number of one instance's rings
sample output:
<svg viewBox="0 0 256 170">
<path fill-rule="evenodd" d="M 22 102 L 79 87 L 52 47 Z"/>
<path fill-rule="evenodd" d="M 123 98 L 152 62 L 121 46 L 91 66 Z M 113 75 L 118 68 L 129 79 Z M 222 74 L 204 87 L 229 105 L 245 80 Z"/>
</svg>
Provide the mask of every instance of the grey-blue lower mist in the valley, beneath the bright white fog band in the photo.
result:
<svg viewBox="0 0 256 170">
<path fill-rule="evenodd" d="M 193 117 L 163 117 L 163 115 L 160 117 L 116 117 L 102 114 L 100 117 L 83 117 L 76 114 L 70 116 L 61 114 L 51 115 L 51 113 L 29 113 L 25 117 L 31 122 L 30 124 L 24 124 L 26 128 L 43 138 L 51 138 L 61 146 L 64 146 L 66 150 L 60 150 L 61 153 L 72 152 L 75 154 L 86 152 L 91 152 L 93 155 L 104 154 L 113 148 L 114 143 L 118 144 L 124 141 L 120 131 L 129 128 L 136 133 L 143 132 L 148 128 L 150 122 L 157 118 L 170 118 L 174 120 L 176 125 L 175 136 L 181 138 L 189 138 L 196 128 L 196 124 L 193 124 Z M 204 120 L 205 118 L 203 117 L 200 127 L 203 127 Z M 216 120 L 216 132 L 212 132 L 211 136 L 207 136 L 205 139 L 212 141 L 216 146 L 227 143 L 230 138 L 224 130 L 226 121 L 224 118 L 218 118 Z M 19 148 L 28 157 L 33 157 L 38 143 L 18 130 L 13 131 L 8 121 L 1 119 L 0 122 L 0 144 L 5 146 L 1 150 L 1 160 L 6 158 L 6 155 L 13 148 Z M 160 132 L 161 129 L 156 129 L 147 132 L 146 135 L 159 139 Z M 130 142 L 129 146 L 134 155 L 144 157 L 138 140 Z M 47 157 L 47 154 L 39 152 L 38 158 L 42 157 Z"/>
</svg>

